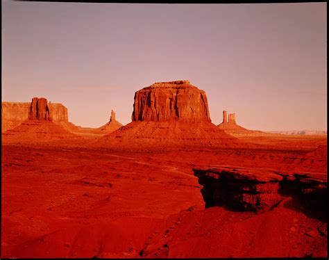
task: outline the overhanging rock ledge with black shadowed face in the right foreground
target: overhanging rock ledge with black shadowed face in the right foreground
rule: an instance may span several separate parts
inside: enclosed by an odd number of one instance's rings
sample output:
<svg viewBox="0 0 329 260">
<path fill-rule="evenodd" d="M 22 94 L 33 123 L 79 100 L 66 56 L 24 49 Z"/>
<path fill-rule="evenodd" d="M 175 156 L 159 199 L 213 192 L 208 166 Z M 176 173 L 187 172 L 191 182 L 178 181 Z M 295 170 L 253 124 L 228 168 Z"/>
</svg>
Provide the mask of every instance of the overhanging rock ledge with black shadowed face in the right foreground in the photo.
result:
<svg viewBox="0 0 329 260">
<path fill-rule="evenodd" d="M 294 197 L 308 209 L 326 205 L 326 173 L 287 173 L 251 168 L 193 169 L 203 186 L 205 207 L 226 206 L 242 211 L 266 211 L 285 197 Z"/>
</svg>

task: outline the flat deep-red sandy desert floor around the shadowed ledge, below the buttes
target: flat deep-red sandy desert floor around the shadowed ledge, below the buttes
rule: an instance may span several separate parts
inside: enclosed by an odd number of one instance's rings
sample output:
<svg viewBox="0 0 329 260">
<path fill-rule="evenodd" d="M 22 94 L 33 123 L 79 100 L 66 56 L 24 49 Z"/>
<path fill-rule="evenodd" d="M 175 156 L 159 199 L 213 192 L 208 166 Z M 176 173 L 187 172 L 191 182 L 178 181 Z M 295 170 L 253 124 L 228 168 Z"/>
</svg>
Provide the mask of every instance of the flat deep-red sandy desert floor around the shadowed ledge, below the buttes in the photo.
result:
<svg viewBox="0 0 329 260">
<path fill-rule="evenodd" d="M 326 137 L 244 139 L 263 148 L 87 148 L 94 136 L 7 140 L 1 257 L 327 257 L 326 222 L 292 197 L 263 213 L 204 209 L 192 168 L 327 174 L 327 147 L 313 151 Z"/>
</svg>

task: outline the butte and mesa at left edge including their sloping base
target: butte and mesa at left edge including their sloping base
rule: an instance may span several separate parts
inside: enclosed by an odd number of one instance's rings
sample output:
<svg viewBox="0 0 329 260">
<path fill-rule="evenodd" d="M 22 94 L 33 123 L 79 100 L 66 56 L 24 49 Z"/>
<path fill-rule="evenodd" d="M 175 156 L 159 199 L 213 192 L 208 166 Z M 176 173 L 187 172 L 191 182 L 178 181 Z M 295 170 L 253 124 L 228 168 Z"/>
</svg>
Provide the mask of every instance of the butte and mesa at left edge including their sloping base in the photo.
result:
<svg viewBox="0 0 329 260">
<path fill-rule="evenodd" d="M 67 108 L 33 97 L 31 103 L 2 104 L 3 143 L 42 143 L 53 140 L 77 139 L 62 124 L 67 121 Z"/>
</svg>

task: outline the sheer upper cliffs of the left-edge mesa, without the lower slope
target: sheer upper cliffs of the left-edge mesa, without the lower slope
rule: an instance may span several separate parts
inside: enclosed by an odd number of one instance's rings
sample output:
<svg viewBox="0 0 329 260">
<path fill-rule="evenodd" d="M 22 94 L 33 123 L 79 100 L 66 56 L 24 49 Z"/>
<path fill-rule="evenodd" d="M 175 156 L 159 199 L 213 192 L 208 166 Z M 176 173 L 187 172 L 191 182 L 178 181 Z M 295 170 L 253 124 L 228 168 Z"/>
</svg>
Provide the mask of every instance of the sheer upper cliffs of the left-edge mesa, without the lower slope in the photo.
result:
<svg viewBox="0 0 329 260">
<path fill-rule="evenodd" d="M 34 97 L 30 102 L 1 102 L 1 132 L 13 129 L 26 120 L 68 122 L 67 108 Z"/>
</svg>

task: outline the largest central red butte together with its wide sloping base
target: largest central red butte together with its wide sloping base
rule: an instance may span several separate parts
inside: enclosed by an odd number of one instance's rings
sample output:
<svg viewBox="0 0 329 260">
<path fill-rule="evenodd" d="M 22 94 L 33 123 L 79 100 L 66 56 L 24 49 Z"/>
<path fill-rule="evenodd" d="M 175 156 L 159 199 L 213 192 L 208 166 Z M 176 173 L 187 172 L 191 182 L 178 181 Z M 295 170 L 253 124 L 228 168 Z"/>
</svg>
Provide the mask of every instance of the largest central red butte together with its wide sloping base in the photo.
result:
<svg viewBox="0 0 329 260">
<path fill-rule="evenodd" d="M 133 122 L 109 133 L 96 146 L 178 147 L 214 145 L 227 147 L 239 141 L 212 124 L 203 90 L 189 81 L 154 83 L 135 92 Z"/>
</svg>

